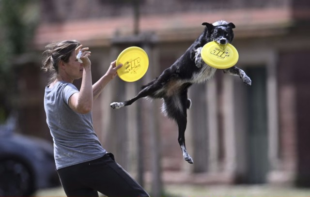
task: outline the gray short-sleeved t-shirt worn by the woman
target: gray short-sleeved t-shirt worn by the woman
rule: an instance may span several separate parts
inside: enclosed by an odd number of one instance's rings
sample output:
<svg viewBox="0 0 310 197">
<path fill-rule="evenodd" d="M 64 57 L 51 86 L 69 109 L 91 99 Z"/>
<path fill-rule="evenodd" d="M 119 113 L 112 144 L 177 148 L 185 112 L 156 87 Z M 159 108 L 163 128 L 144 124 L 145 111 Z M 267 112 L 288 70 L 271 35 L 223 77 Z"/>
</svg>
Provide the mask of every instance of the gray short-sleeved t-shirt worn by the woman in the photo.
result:
<svg viewBox="0 0 310 197">
<path fill-rule="evenodd" d="M 79 114 L 68 101 L 78 89 L 71 83 L 57 82 L 45 88 L 44 108 L 54 141 L 56 168 L 97 159 L 106 154 L 93 129 L 92 112 Z"/>
</svg>

